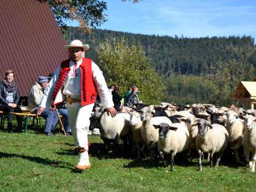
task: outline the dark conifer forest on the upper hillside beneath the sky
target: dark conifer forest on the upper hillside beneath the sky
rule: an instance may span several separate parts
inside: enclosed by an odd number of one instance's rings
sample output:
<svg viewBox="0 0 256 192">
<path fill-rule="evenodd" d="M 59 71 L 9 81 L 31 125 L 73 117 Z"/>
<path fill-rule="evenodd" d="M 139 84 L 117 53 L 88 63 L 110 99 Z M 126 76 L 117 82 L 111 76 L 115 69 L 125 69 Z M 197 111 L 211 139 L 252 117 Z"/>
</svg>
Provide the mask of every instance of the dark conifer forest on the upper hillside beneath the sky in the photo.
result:
<svg viewBox="0 0 256 192">
<path fill-rule="evenodd" d="M 135 40 L 144 48 L 146 55 L 152 59 L 152 63 L 159 74 L 170 76 L 177 74 L 208 74 L 211 67 L 218 61 L 230 59 L 243 60 L 256 66 L 256 51 L 254 39 L 243 37 L 204 37 L 183 38 L 158 35 L 142 35 L 123 33 L 111 30 L 93 30 L 91 37 L 80 34 L 77 29 L 70 27 L 67 30 L 66 42 L 74 39 L 83 40 L 90 45 L 89 56 L 95 58 L 95 47 L 106 38 L 119 40 L 121 37 L 129 41 Z"/>
</svg>

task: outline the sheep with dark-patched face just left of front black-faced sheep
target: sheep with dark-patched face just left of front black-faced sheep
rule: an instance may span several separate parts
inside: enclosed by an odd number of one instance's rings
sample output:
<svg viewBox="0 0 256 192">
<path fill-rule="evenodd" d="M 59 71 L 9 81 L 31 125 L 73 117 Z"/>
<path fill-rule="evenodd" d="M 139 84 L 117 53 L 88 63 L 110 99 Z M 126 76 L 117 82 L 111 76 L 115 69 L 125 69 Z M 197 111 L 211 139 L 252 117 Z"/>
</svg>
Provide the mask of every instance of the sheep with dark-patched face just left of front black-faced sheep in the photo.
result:
<svg viewBox="0 0 256 192">
<path fill-rule="evenodd" d="M 172 122 L 166 117 L 154 117 L 152 118 L 152 113 L 154 113 L 154 106 L 145 106 L 141 109 L 141 121 L 143 126 L 141 127 L 141 137 L 143 138 L 145 144 L 141 148 L 147 147 L 150 151 L 150 156 L 154 156 L 154 150 L 157 149 L 158 144 L 158 130 L 154 128 L 154 125 L 160 125 L 160 123 L 168 123 L 170 125 Z"/>
</svg>

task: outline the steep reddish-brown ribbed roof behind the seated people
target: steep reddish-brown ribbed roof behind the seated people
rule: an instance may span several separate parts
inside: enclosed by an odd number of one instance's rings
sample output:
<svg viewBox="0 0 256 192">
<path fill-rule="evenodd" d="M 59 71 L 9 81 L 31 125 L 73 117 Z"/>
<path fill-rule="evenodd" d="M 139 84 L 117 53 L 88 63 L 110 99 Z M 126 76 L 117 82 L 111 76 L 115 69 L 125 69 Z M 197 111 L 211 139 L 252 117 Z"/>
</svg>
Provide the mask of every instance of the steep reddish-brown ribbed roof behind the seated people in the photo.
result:
<svg viewBox="0 0 256 192">
<path fill-rule="evenodd" d="M 40 0 L 1 1 L 0 81 L 12 69 L 21 96 L 38 76 L 48 76 L 68 58 L 49 5 Z"/>
</svg>

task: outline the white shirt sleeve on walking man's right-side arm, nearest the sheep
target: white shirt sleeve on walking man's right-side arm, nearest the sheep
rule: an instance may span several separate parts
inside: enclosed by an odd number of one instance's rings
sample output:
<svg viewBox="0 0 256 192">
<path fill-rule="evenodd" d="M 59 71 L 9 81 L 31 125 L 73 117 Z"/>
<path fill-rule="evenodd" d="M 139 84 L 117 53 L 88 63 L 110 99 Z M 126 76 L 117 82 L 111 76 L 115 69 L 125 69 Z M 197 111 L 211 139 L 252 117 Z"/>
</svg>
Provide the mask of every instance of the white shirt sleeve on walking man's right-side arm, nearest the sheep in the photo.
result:
<svg viewBox="0 0 256 192">
<path fill-rule="evenodd" d="M 99 97 L 101 98 L 103 107 L 110 108 L 114 106 L 112 95 L 109 93 L 108 86 L 106 86 L 106 81 L 102 74 L 102 71 L 93 61 L 91 63 L 91 68 L 93 72 L 93 81 L 95 84 L 95 88 L 98 91 Z"/>
</svg>

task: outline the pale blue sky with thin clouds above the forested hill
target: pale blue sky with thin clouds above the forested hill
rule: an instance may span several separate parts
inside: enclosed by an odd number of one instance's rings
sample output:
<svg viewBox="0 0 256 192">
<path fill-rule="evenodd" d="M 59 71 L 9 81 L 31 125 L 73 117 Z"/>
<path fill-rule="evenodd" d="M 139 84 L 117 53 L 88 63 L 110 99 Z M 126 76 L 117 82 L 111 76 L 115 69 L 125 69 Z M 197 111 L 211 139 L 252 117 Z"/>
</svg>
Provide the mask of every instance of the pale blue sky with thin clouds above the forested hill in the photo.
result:
<svg viewBox="0 0 256 192">
<path fill-rule="evenodd" d="M 99 29 L 174 37 L 251 35 L 256 0 L 106 0 L 108 21 Z"/>
</svg>

